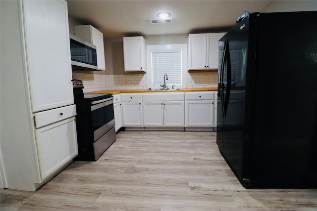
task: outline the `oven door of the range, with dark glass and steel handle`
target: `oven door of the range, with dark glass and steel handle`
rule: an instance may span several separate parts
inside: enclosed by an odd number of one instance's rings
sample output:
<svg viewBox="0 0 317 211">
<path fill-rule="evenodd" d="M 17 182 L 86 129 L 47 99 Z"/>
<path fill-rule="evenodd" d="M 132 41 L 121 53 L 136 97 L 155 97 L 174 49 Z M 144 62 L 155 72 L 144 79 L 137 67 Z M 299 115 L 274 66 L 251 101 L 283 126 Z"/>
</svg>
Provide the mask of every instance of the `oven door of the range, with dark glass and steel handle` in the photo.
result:
<svg viewBox="0 0 317 211">
<path fill-rule="evenodd" d="M 94 141 L 97 141 L 114 126 L 113 97 L 92 102 L 91 117 Z"/>
</svg>

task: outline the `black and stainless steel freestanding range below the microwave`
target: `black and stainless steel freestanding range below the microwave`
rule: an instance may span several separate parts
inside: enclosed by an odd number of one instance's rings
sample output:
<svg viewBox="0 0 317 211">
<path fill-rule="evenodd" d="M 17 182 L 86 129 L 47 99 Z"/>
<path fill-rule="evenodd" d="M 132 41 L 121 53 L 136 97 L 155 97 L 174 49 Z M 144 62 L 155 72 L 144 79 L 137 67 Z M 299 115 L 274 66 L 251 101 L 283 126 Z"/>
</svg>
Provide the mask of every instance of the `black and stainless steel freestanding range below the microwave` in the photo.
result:
<svg viewBox="0 0 317 211">
<path fill-rule="evenodd" d="M 112 94 L 84 94 L 83 82 L 73 80 L 77 116 L 78 156 L 96 161 L 115 141 Z"/>
</svg>

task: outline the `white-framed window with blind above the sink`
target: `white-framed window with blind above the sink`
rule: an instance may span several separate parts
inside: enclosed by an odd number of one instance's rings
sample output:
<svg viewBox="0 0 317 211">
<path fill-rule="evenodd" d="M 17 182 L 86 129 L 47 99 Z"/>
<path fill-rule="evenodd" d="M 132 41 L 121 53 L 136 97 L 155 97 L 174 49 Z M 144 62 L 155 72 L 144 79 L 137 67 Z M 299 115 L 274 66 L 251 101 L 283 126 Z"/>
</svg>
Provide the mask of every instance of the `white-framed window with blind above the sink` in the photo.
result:
<svg viewBox="0 0 317 211">
<path fill-rule="evenodd" d="M 187 44 L 148 45 L 147 70 L 148 88 L 161 88 L 164 74 L 165 84 L 171 88 L 186 87 Z"/>
</svg>

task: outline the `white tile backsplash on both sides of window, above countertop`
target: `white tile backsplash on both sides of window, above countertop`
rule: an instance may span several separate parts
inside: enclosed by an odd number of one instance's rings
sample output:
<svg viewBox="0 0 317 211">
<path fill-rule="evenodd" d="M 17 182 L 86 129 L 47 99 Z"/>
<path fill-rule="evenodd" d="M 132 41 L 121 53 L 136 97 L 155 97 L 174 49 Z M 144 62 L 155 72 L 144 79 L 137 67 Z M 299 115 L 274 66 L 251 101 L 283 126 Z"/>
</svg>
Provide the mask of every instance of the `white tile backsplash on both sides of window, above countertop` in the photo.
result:
<svg viewBox="0 0 317 211">
<path fill-rule="evenodd" d="M 73 79 L 82 80 L 84 92 L 100 90 L 147 89 L 147 74 L 101 75 L 73 72 Z M 187 72 L 187 88 L 217 87 L 218 72 Z"/>
</svg>

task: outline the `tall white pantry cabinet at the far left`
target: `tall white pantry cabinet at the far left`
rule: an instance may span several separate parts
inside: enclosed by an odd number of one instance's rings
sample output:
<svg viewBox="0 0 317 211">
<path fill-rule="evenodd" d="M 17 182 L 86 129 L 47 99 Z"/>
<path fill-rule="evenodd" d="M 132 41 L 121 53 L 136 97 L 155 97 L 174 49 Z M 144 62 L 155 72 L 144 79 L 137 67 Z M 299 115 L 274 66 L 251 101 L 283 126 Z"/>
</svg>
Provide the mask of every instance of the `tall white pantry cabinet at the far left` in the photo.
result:
<svg viewBox="0 0 317 211">
<path fill-rule="evenodd" d="M 78 154 L 67 2 L 0 1 L 1 187 L 34 191 Z"/>
</svg>

